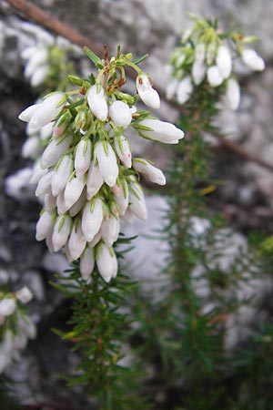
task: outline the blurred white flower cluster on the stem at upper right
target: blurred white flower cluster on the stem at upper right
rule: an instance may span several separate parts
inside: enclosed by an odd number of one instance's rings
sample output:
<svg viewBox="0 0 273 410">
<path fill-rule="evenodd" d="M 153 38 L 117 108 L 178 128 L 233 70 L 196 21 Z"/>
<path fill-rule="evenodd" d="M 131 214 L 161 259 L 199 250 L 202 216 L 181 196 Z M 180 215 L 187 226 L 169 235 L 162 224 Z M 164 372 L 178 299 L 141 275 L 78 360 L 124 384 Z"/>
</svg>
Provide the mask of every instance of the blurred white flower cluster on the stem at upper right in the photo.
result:
<svg viewBox="0 0 273 410">
<path fill-rule="evenodd" d="M 240 88 L 233 73 L 234 59 L 253 71 L 262 71 L 265 62 L 253 49 L 246 47 L 256 37 L 241 33 L 224 34 L 217 23 L 199 20 L 192 29 L 182 35 L 181 44 L 170 59 L 170 76 L 167 98 L 185 104 L 194 93 L 195 87 L 207 82 L 209 87 L 221 87 L 226 107 L 236 110 L 240 102 Z"/>
</svg>

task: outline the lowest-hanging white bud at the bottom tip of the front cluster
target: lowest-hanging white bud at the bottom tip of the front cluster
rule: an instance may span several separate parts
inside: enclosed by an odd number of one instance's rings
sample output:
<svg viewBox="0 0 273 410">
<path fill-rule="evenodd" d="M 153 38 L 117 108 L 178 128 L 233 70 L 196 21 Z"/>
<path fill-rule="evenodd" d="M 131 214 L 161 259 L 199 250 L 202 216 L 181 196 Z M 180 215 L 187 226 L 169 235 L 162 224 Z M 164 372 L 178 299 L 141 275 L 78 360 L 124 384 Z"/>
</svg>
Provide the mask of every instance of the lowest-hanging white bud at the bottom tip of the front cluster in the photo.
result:
<svg viewBox="0 0 273 410">
<path fill-rule="evenodd" d="M 110 282 L 111 278 L 116 277 L 117 262 L 113 248 L 108 247 L 105 243 L 100 244 L 96 251 L 96 266 L 106 282 Z"/>
</svg>

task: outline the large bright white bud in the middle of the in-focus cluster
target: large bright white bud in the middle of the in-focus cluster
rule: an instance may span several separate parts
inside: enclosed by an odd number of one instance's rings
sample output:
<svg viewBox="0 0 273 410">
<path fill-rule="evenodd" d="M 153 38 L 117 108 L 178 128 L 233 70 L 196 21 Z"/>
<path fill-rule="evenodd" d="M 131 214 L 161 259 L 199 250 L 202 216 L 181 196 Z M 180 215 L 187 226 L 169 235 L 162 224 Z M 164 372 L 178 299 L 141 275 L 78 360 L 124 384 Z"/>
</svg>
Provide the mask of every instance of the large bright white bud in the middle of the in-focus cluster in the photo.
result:
<svg viewBox="0 0 273 410">
<path fill-rule="evenodd" d="M 114 187 L 118 176 L 116 154 L 107 141 L 99 141 L 96 144 L 96 159 L 98 168 L 103 179 L 109 187 Z"/>
</svg>

